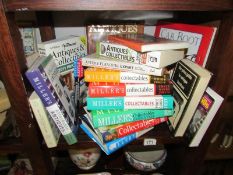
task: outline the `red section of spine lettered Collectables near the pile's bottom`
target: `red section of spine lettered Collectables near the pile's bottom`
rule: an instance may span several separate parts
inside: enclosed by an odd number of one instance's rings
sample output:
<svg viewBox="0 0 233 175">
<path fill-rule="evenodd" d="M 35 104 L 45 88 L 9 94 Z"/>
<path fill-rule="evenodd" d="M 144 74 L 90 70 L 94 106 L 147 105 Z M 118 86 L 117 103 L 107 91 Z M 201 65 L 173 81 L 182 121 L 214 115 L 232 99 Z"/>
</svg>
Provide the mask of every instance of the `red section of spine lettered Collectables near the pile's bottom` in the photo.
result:
<svg viewBox="0 0 233 175">
<path fill-rule="evenodd" d="M 155 119 L 149 119 L 149 120 L 139 120 L 135 122 L 130 122 L 128 124 L 119 126 L 116 128 L 117 136 L 118 138 L 124 137 L 126 135 L 132 134 L 137 131 L 141 131 L 146 128 L 150 128 L 152 126 L 158 125 L 162 122 L 167 121 L 167 117 L 162 118 L 155 118 Z"/>
</svg>

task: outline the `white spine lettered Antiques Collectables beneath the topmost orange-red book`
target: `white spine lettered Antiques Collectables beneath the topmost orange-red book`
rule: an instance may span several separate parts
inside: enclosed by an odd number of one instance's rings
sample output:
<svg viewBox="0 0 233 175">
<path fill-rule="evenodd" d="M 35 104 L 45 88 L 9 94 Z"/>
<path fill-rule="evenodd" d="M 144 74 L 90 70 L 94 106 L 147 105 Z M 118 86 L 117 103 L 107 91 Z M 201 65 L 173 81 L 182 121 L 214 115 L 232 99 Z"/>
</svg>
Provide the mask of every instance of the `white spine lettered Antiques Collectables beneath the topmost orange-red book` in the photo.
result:
<svg viewBox="0 0 233 175">
<path fill-rule="evenodd" d="M 120 44 L 104 41 L 99 42 L 97 46 L 98 49 L 96 50 L 96 53 L 101 56 L 112 58 L 114 60 L 122 60 L 136 64 L 144 64 L 154 68 L 161 68 L 161 51 L 142 53 Z"/>
</svg>

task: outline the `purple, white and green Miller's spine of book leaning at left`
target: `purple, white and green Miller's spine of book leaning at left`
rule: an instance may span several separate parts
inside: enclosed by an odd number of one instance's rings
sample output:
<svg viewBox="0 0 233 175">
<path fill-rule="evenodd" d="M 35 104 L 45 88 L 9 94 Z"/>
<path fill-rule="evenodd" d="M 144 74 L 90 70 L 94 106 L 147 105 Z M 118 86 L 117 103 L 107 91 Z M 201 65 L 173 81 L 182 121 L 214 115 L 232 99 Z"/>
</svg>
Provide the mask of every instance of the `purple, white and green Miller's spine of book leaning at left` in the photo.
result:
<svg viewBox="0 0 233 175">
<path fill-rule="evenodd" d="M 69 120 L 69 116 L 62 108 L 58 98 L 55 97 L 55 91 L 48 88 L 39 70 L 26 72 L 26 76 L 67 143 L 76 143 L 77 139 L 71 129 L 73 127 L 73 123 Z"/>
</svg>

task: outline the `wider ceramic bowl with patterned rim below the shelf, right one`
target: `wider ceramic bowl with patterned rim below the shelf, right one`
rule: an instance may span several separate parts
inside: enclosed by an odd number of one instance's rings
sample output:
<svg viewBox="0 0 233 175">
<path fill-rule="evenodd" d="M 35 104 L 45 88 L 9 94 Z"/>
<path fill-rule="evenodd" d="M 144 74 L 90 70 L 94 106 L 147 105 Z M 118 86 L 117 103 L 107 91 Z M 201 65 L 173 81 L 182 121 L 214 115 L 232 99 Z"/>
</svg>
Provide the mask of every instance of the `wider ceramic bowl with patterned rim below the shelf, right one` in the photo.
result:
<svg viewBox="0 0 233 175">
<path fill-rule="evenodd" d="M 167 157 L 166 149 L 150 151 L 126 151 L 126 160 L 131 166 L 140 171 L 154 171 L 158 169 Z"/>
</svg>

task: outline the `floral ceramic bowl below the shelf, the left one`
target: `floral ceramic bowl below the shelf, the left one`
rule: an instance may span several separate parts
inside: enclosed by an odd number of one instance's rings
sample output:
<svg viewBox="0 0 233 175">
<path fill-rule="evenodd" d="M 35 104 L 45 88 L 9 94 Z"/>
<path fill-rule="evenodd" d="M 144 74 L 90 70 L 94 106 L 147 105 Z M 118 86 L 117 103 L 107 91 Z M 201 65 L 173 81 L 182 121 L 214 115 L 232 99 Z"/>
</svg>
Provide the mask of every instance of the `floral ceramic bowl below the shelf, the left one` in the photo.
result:
<svg viewBox="0 0 233 175">
<path fill-rule="evenodd" d="M 75 165 L 82 170 L 93 168 L 101 156 L 98 147 L 87 149 L 69 149 L 69 155 Z"/>
</svg>

